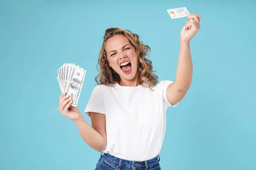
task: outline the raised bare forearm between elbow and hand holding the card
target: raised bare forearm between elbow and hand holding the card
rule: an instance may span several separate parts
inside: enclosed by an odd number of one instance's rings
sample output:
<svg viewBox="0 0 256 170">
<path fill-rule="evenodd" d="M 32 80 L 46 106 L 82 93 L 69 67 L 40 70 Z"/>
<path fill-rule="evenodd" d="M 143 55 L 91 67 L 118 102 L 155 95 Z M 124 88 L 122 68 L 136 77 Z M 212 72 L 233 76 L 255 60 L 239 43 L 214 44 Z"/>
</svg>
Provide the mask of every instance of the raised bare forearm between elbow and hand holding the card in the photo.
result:
<svg viewBox="0 0 256 170">
<path fill-rule="evenodd" d="M 187 91 L 192 82 L 192 58 L 190 54 L 189 43 L 180 41 L 180 55 L 177 65 L 175 82 L 180 91 Z"/>
</svg>

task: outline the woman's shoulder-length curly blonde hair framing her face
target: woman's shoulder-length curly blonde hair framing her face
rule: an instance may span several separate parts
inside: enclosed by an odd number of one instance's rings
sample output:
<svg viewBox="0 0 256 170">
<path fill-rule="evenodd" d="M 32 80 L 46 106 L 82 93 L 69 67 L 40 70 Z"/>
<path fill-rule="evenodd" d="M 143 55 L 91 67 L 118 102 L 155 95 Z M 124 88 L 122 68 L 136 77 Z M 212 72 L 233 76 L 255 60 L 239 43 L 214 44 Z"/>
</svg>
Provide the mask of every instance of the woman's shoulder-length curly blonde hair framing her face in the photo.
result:
<svg viewBox="0 0 256 170">
<path fill-rule="evenodd" d="M 122 34 L 127 37 L 136 49 L 136 53 L 138 56 L 138 80 L 139 84 L 143 85 L 143 82 L 150 87 L 150 85 L 156 85 L 158 82 L 158 77 L 156 74 L 153 74 L 153 66 L 151 60 L 147 59 L 146 56 L 150 54 L 150 48 L 148 45 L 144 45 L 137 34 L 132 33 L 128 29 L 121 29 L 121 28 L 108 28 L 105 31 L 105 35 L 103 37 L 103 44 L 102 48 L 99 51 L 99 59 L 97 63 L 97 70 L 99 74 L 95 77 L 95 81 L 99 85 L 108 85 L 113 86 L 114 84 L 118 83 L 121 79 L 119 74 L 117 74 L 113 68 L 108 65 L 107 60 L 107 53 L 105 50 L 106 42 L 109 38 L 117 35 Z M 145 86 L 145 85 L 143 85 Z"/>
</svg>

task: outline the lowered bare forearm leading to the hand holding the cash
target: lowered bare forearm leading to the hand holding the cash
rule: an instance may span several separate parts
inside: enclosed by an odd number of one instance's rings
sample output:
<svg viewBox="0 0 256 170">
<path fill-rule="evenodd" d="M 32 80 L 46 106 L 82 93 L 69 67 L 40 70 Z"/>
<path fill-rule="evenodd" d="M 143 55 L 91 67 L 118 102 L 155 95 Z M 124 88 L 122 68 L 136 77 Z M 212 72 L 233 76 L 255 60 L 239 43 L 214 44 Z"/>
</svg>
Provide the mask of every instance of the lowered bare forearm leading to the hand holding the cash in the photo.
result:
<svg viewBox="0 0 256 170">
<path fill-rule="evenodd" d="M 93 127 L 91 127 L 83 117 L 77 119 L 74 122 L 78 127 L 84 142 L 86 142 L 91 148 L 97 150 L 98 152 L 105 148 L 104 137 L 95 129 L 93 129 Z"/>
</svg>

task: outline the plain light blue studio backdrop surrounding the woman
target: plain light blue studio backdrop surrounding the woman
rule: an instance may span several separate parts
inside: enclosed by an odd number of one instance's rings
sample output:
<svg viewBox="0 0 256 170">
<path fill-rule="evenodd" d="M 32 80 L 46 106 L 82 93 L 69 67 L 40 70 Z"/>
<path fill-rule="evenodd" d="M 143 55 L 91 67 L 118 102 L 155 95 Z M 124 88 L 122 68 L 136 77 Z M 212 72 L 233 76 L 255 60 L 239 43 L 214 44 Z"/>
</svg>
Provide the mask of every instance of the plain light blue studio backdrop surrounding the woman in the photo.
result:
<svg viewBox="0 0 256 170">
<path fill-rule="evenodd" d="M 0 1 L 0 170 L 92 170 L 100 153 L 58 112 L 57 70 L 87 70 L 78 107 L 95 87 L 109 27 L 151 47 L 160 80 L 175 80 L 180 30 L 167 9 L 201 15 L 191 40 L 192 85 L 167 110 L 163 170 L 256 170 L 256 1 Z M 90 123 L 90 118 L 84 114 Z"/>
</svg>

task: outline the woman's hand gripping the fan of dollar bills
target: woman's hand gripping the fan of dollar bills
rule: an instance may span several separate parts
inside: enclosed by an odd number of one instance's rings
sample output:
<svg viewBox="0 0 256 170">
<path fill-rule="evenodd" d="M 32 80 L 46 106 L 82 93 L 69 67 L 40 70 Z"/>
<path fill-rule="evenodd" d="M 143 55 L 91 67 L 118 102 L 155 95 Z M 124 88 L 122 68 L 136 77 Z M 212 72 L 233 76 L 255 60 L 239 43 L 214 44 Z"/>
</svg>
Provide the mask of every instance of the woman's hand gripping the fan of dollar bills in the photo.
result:
<svg viewBox="0 0 256 170">
<path fill-rule="evenodd" d="M 73 103 L 72 97 L 69 95 L 61 94 L 59 97 L 59 107 L 58 111 L 60 111 L 61 114 L 66 116 L 68 119 L 71 120 L 77 120 L 79 119 L 82 115 L 77 107 L 71 106 Z"/>
</svg>

